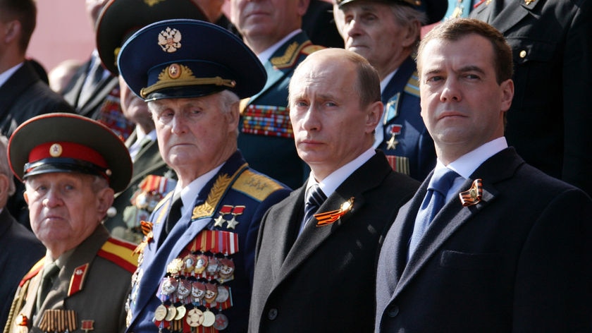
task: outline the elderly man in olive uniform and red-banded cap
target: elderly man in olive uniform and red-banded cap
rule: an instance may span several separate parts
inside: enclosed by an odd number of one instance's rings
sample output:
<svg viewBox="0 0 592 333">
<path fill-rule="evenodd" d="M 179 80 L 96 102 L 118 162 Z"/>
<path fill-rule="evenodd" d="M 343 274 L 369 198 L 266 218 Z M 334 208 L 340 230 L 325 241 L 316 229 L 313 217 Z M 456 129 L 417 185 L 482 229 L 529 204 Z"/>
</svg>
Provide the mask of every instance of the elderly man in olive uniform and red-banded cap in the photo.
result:
<svg viewBox="0 0 592 333">
<path fill-rule="evenodd" d="M 130 181 L 125 145 L 97 121 L 46 114 L 16 129 L 8 157 L 47 253 L 20 281 L 4 332 L 122 332 L 135 246 L 101 220 Z"/>
</svg>

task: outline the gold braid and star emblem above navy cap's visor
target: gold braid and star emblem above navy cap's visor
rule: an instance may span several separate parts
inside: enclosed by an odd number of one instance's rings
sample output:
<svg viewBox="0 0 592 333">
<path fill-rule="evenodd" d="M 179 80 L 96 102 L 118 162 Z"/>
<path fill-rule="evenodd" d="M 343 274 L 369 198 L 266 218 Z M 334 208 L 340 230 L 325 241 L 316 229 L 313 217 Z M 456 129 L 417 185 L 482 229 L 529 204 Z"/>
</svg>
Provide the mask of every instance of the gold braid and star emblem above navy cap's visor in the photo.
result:
<svg viewBox="0 0 592 333">
<path fill-rule="evenodd" d="M 226 87 L 235 87 L 235 80 L 227 80 L 216 76 L 215 78 L 196 78 L 190 68 L 173 63 L 164 68 L 159 74 L 159 80 L 149 87 L 140 90 L 140 96 L 146 98 L 156 90 L 184 87 L 187 85 L 224 85 Z"/>
</svg>

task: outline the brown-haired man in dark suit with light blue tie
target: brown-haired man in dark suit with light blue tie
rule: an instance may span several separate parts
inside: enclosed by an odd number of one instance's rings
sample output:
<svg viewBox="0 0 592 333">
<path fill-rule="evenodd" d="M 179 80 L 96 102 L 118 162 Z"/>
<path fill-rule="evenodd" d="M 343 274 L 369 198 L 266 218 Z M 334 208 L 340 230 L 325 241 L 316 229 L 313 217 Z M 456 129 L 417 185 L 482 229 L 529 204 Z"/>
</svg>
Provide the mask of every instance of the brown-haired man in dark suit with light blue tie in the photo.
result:
<svg viewBox="0 0 592 333">
<path fill-rule="evenodd" d="M 507 146 L 503 35 L 440 23 L 417 64 L 438 163 L 381 249 L 376 332 L 590 332 L 592 200 Z"/>
</svg>

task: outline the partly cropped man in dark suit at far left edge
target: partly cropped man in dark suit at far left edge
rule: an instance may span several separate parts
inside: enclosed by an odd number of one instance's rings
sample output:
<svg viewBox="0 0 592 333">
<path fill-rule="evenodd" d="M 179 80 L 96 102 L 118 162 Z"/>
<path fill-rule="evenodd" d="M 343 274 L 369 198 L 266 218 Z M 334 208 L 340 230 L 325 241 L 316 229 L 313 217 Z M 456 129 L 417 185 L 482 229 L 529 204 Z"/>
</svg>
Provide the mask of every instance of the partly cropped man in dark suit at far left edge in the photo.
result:
<svg viewBox="0 0 592 333">
<path fill-rule="evenodd" d="M 45 247 L 35 234 L 16 222 L 5 208 L 6 200 L 15 192 L 6 145 L 8 140 L 4 135 L 0 136 L 0 327 L 6 324 L 18 281 L 45 254 Z"/>
</svg>

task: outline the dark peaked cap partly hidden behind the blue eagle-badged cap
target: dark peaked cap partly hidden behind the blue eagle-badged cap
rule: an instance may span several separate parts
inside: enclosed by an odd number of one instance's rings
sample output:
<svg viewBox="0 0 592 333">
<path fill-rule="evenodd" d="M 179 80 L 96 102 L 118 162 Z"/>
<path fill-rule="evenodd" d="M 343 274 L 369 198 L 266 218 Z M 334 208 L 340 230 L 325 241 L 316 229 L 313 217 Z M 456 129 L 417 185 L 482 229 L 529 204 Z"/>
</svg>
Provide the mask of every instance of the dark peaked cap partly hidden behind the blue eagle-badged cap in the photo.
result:
<svg viewBox="0 0 592 333">
<path fill-rule="evenodd" d="M 111 0 L 97 20 L 97 51 L 103 63 L 118 75 L 117 54 L 123 42 L 140 28 L 161 20 L 207 20 L 192 0 Z"/>
</svg>

